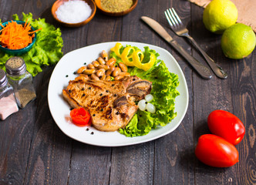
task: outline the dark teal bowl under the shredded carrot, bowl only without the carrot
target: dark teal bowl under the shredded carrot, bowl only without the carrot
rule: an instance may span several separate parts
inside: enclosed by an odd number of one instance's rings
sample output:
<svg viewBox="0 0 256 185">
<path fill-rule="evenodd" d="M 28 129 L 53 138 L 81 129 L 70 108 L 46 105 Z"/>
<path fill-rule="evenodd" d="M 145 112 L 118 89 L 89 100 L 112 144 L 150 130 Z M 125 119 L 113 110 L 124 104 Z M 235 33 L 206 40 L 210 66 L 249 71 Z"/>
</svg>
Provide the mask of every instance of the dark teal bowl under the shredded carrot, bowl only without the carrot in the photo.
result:
<svg viewBox="0 0 256 185">
<path fill-rule="evenodd" d="M 19 25 L 24 25 L 25 24 L 25 22 L 22 22 L 22 21 L 8 21 L 8 22 L 17 22 Z M 4 22 L 4 23 L 2 23 L 2 25 L 5 26 L 5 25 L 8 24 L 8 22 Z M 32 29 L 32 31 L 35 31 L 35 29 L 32 26 L 31 26 L 31 29 Z M 0 26 L 0 30 L 2 30 L 2 26 Z M 32 49 L 32 46 L 34 45 L 35 40 L 36 40 L 36 32 L 34 34 L 35 34 L 35 36 L 32 39 L 32 43 L 30 43 L 25 48 L 22 48 L 22 49 L 8 49 L 8 48 L 2 47 L 2 45 L 0 45 L 0 49 L 3 52 L 8 53 L 9 55 L 22 55 L 26 52 L 29 52 L 29 50 Z"/>
</svg>

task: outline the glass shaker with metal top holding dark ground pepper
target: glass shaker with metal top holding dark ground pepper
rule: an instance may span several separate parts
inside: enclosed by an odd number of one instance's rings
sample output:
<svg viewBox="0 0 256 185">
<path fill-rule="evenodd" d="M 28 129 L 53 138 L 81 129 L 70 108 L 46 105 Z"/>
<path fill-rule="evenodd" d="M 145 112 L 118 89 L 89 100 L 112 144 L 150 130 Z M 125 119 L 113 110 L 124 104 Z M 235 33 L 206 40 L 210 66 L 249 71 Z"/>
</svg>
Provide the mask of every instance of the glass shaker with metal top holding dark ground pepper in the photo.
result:
<svg viewBox="0 0 256 185">
<path fill-rule="evenodd" d="M 36 98 L 32 75 L 26 70 L 24 60 L 14 56 L 5 62 L 9 83 L 12 85 L 15 98 L 20 108 L 24 108 Z"/>
</svg>

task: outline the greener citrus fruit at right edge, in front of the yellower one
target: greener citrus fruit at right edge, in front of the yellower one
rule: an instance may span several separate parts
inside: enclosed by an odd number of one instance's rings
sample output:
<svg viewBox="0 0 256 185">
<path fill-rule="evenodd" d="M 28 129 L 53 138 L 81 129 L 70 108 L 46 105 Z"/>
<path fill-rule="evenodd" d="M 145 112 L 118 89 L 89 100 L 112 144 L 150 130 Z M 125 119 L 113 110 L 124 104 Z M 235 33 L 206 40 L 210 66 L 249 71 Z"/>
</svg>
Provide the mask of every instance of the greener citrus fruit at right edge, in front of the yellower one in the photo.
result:
<svg viewBox="0 0 256 185">
<path fill-rule="evenodd" d="M 221 49 L 230 59 L 243 59 L 251 54 L 255 45 L 254 31 L 241 23 L 231 25 L 221 37 Z"/>
</svg>

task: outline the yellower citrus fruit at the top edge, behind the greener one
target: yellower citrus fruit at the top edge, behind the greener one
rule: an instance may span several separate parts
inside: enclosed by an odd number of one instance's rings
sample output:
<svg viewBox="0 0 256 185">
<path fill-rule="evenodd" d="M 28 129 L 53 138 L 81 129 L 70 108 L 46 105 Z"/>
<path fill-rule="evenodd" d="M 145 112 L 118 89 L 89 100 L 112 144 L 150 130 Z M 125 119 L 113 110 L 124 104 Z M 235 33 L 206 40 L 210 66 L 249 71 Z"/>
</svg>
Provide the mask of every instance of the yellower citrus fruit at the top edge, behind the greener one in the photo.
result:
<svg viewBox="0 0 256 185">
<path fill-rule="evenodd" d="M 222 34 L 237 22 L 237 8 L 230 0 L 213 0 L 204 9 L 203 22 L 206 29 Z"/>
</svg>

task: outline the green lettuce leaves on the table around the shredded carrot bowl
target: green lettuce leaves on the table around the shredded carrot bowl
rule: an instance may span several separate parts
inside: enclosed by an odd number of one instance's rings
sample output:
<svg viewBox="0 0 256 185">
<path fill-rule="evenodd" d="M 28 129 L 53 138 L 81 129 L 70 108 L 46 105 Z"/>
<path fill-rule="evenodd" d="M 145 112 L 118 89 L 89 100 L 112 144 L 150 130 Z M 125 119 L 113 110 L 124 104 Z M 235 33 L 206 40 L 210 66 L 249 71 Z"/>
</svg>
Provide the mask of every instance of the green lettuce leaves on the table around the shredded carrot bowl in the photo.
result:
<svg viewBox="0 0 256 185">
<path fill-rule="evenodd" d="M 21 20 L 31 23 L 34 29 L 40 29 L 37 32 L 37 37 L 35 44 L 29 52 L 20 55 L 25 60 L 27 70 L 36 76 L 39 72 L 42 72 L 42 66 L 49 66 L 59 62 L 59 59 L 62 57 L 62 33 L 60 29 L 56 29 L 53 25 L 45 22 L 45 18 L 32 18 L 32 13 L 25 14 L 22 13 L 22 19 L 19 19 L 17 14 L 12 15 L 13 20 Z M 1 22 L 1 20 L 0 20 Z M 12 55 L 8 55 L 5 52 L 0 51 L 0 68 L 5 70 L 5 62 Z"/>
</svg>

